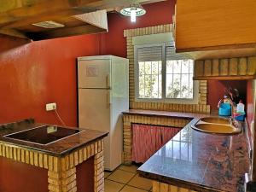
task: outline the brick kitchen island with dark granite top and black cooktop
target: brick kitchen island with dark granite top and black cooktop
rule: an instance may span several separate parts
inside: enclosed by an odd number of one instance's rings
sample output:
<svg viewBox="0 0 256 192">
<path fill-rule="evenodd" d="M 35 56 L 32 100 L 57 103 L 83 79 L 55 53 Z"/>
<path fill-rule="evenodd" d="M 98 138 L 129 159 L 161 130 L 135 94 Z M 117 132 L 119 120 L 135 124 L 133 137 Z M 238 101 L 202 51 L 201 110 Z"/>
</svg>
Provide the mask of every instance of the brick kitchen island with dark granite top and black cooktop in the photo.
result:
<svg viewBox="0 0 256 192">
<path fill-rule="evenodd" d="M 0 191 L 103 191 L 102 139 L 108 133 L 73 128 L 75 134 L 46 144 L 45 139 L 20 139 L 29 137 L 27 131 L 46 126 L 49 135 L 58 129 L 70 131 L 68 127 L 38 124 L 33 119 L 0 125 Z M 18 139 L 13 137 L 17 132 Z M 35 137 L 39 136 L 30 139 Z"/>
</svg>

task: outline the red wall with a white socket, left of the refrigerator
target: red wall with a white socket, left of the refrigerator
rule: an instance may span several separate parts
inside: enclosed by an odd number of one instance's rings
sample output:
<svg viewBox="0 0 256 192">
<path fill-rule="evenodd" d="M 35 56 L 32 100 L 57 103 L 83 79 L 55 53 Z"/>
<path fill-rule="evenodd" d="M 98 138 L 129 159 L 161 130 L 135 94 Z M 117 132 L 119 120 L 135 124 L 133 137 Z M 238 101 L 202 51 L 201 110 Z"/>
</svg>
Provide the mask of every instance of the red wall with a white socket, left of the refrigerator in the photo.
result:
<svg viewBox="0 0 256 192">
<path fill-rule="evenodd" d="M 60 38 L 2 52 L 0 123 L 33 117 L 58 124 L 55 113 L 45 111 L 45 103 L 56 102 L 66 124 L 76 125 L 76 57 L 99 54 L 99 41 L 92 35 Z"/>
</svg>

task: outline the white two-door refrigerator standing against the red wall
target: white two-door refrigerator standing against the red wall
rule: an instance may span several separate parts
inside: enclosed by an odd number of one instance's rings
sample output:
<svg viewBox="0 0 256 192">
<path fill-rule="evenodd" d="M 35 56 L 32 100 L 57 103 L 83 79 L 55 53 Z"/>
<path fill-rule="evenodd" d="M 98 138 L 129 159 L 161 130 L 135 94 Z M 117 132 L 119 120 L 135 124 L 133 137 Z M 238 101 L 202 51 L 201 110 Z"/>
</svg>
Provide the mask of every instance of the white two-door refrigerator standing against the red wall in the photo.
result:
<svg viewBox="0 0 256 192">
<path fill-rule="evenodd" d="M 122 163 L 122 112 L 129 109 L 129 61 L 113 55 L 78 58 L 79 128 L 108 131 L 105 170 Z"/>
</svg>

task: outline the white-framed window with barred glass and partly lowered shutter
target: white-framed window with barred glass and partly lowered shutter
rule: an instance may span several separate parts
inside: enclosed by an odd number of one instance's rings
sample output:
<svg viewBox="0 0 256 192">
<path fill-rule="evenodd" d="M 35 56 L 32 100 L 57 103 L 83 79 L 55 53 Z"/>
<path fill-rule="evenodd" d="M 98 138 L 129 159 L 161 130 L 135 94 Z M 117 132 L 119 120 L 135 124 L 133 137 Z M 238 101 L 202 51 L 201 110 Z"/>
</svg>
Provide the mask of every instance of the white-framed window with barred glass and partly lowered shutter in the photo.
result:
<svg viewBox="0 0 256 192">
<path fill-rule="evenodd" d="M 135 46 L 137 100 L 196 103 L 194 61 L 175 53 L 172 44 Z"/>
</svg>

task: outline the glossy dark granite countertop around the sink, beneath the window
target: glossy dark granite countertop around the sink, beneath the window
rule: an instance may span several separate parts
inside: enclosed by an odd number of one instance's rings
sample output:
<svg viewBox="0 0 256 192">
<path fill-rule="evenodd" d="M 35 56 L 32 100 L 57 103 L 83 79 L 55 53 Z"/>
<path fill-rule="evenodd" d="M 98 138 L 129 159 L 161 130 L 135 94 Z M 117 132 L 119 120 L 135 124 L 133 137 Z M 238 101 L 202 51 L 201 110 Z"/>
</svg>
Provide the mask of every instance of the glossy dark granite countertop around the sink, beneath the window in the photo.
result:
<svg viewBox="0 0 256 192">
<path fill-rule="evenodd" d="M 137 172 L 140 176 L 198 191 L 243 191 L 243 177 L 250 169 L 246 127 L 236 135 L 195 131 L 191 125 L 205 116 L 130 110 L 129 114 L 189 118 L 190 123 L 157 151 Z M 215 115 L 216 116 L 216 115 Z"/>
</svg>

